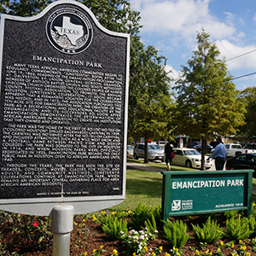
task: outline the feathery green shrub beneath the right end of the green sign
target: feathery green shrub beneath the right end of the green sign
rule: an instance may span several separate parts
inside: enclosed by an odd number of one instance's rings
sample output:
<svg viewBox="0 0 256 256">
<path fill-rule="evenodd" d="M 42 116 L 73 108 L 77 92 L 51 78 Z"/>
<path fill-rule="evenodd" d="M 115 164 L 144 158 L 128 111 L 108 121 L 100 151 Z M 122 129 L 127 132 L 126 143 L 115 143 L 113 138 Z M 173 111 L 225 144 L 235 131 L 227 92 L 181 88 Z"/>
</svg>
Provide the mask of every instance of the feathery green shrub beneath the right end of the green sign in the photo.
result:
<svg viewBox="0 0 256 256">
<path fill-rule="evenodd" d="M 253 230 L 250 229 L 250 221 L 248 218 L 243 217 L 239 214 L 237 218 L 229 218 L 226 220 L 225 236 L 231 240 L 243 240 L 248 238 Z"/>
</svg>

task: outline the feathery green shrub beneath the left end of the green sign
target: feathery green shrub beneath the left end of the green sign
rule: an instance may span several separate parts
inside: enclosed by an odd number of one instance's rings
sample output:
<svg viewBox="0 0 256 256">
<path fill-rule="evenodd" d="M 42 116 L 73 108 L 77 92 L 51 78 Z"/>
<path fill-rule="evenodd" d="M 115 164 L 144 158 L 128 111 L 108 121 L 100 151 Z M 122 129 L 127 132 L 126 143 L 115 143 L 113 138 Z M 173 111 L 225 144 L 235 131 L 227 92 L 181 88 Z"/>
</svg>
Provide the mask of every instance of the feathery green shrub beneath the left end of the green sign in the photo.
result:
<svg viewBox="0 0 256 256">
<path fill-rule="evenodd" d="M 164 234 L 172 247 L 181 248 L 189 240 L 187 225 L 182 220 L 172 222 L 170 219 L 164 221 Z"/>
</svg>

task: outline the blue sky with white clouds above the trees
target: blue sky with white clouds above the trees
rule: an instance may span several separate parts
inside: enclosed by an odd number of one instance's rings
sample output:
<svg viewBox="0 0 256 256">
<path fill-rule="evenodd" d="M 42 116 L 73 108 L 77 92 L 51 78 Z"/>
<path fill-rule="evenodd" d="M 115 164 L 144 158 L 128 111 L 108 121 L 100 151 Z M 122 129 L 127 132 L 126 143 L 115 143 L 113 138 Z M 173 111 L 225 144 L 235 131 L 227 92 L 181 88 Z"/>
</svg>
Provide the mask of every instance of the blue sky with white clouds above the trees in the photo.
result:
<svg viewBox="0 0 256 256">
<path fill-rule="evenodd" d="M 225 58 L 237 90 L 256 86 L 256 0 L 131 0 L 140 12 L 143 44 L 167 58 L 178 78 L 203 28 Z M 253 75 L 248 75 L 255 73 Z M 239 77 L 242 77 L 238 79 Z"/>
</svg>

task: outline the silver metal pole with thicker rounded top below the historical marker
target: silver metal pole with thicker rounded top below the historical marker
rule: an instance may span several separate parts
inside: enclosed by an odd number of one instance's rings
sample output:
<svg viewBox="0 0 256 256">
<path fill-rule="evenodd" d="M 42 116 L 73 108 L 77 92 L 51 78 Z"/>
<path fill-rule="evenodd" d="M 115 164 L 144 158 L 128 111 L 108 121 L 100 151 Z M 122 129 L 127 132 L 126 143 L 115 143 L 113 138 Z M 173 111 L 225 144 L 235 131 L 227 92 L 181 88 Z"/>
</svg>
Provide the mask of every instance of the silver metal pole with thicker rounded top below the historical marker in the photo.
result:
<svg viewBox="0 0 256 256">
<path fill-rule="evenodd" d="M 53 208 L 52 227 L 53 256 L 69 256 L 70 233 L 73 230 L 74 208 L 71 205 L 61 204 Z"/>
</svg>

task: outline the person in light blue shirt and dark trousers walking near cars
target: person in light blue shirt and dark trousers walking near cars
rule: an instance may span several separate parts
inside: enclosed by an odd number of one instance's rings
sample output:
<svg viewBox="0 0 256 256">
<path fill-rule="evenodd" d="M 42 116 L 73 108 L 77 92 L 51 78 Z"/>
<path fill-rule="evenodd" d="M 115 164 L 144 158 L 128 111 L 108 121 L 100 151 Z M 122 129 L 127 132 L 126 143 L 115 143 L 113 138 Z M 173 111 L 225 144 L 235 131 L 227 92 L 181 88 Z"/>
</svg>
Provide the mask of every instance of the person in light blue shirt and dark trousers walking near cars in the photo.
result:
<svg viewBox="0 0 256 256">
<path fill-rule="evenodd" d="M 215 169 L 216 171 L 221 171 L 224 169 L 227 149 L 224 146 L 224 143 L 222 142 L 220 137 L 217 138 L 216 143 L 217 143 L 216 148 L 213 150 L 212 154 L 209 156 L 209 159 L 210 158 L 215 159 Z"/>
</svg>

